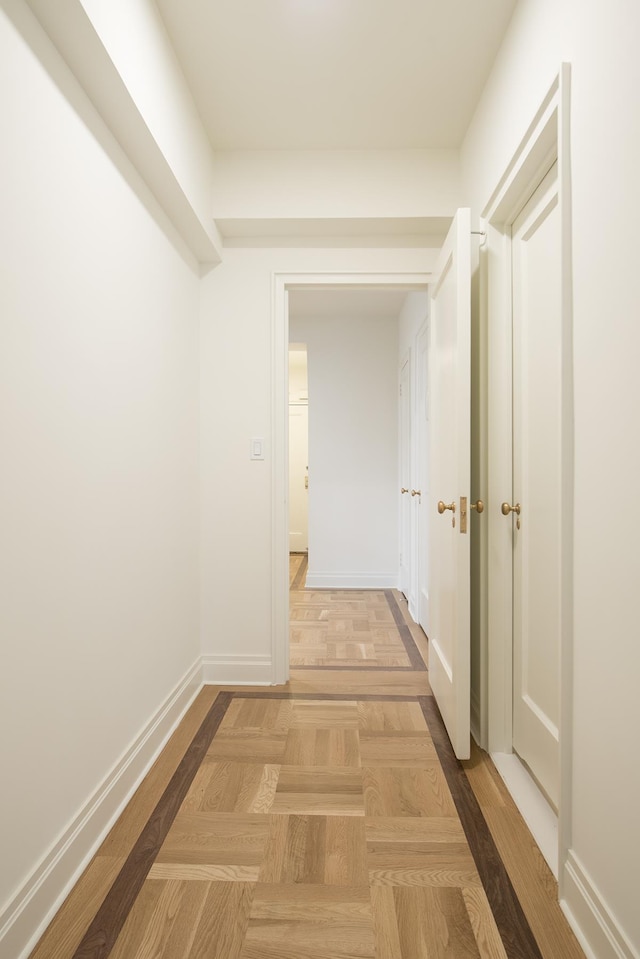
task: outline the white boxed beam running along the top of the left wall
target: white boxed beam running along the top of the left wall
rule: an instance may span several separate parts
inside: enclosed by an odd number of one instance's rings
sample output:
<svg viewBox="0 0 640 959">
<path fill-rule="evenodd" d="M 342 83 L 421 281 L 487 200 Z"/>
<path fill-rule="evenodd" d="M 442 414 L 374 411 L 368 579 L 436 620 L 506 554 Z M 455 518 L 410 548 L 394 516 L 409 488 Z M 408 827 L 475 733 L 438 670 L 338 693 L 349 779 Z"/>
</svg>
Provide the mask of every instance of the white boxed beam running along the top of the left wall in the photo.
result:
<svg viewBox="0 0 640 959">
<path fill-rule="evenodd" d="M 27 8 L 33 11 L 91 100 L 83 117 L 103 149 L 110 152 L 114 138 L 192 253 L 218 263 L 213 155 L 153 0 L 4 0 L 3 6 L 19 24 Z M 96 110 L 111 137 L 93 124 Z M 122 171 L 126 176 L 127 167 Z"/>
</svg>

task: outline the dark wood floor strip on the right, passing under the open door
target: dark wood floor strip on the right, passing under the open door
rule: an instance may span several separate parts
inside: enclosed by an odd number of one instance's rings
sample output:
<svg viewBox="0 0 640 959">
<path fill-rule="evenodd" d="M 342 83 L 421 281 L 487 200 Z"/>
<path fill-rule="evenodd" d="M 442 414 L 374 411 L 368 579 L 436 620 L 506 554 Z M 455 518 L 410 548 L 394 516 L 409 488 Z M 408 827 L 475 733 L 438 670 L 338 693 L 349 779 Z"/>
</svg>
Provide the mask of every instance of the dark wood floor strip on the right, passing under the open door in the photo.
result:
<svg viewBox="0 0 640 959">
<path fill-rule="evenodd" d="M 462 828 L 480 874 L 508 959 L 542 959 L 520 900 L 462 765 L 456 759 L 433 696 L 418 696 Z"/>
</svg>

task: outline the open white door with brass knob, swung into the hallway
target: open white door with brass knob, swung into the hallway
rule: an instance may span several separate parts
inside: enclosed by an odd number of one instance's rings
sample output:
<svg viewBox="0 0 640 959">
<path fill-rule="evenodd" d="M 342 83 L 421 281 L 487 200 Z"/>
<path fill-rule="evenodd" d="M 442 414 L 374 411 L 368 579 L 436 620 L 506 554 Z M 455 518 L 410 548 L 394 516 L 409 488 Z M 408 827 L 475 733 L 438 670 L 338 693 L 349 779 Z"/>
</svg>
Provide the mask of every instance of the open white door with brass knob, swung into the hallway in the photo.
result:
<svg viewBox="0 0 640 959">
<path fill-rule="evenodd" d="M 458 759 L 470 755 L 471 227 L 458 210 L 431 286 L 429 682 Z M 436 505 L 437 504 L 437 505 Z"/>
</svg>

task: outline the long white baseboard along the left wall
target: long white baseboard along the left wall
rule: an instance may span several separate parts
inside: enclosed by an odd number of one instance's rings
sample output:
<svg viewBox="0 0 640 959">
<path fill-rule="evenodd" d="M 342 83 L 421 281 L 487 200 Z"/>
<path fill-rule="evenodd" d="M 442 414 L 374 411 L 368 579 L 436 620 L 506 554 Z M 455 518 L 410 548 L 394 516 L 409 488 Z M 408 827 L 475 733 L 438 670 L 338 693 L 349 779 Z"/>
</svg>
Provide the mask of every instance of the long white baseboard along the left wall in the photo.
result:
<svg viewBox="0 0 640 959">
<path fill-rule="evenodd" d="M 202 686 L 200 657 L 0 913 L 0 959 L 26 959 Z"/>
</svg>

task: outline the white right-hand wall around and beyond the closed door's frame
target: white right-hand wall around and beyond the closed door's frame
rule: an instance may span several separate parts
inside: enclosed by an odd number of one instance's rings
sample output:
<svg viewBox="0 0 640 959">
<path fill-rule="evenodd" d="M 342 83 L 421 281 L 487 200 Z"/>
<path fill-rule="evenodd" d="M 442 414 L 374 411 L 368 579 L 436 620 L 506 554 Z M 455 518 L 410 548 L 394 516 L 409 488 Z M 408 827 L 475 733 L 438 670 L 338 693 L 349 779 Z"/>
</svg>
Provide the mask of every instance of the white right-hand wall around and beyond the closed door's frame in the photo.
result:
<svg viewBox="0 0 640 959">
<path fill-rule="evenodd" d="M 606 8 L 595 0 L 522 0 L 462 151 L 477 214 L 560 62 L 571 63 L 575 649 L 572 848 L 562 882 L 598 959 L 640 955 L 640 559 L 632 492 L 640 473 L 639 30 L 640 8 L 628 0 Z"/>
</svg>

